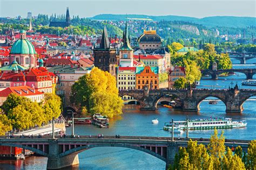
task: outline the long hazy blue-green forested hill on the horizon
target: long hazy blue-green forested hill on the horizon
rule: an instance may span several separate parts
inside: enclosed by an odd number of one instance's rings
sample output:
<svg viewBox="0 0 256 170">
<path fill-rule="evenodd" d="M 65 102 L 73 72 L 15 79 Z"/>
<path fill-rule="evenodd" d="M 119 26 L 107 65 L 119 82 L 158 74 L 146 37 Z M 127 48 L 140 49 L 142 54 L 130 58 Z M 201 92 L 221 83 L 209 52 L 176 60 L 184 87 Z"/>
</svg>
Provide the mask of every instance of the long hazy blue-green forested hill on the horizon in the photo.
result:
<svg viewBox="0 0 256 170">
<path fill-rule="evenodd" d="M 100 20 L 125 20 L 125 18 L 149 18 L 153 21 L 185 21 L 205 26 L 226 26 L 226 27 L 239 27 L 244 28 L 247 26 L 256 26 L 255 17 L 231 17 L 231 16 L 214 16 L 205 18 L 183 17 L 183 16 L 148 16 L 148 15 L 113 15 L 113 14 L 100 14 L 90 19 Z"/>
</svg>

